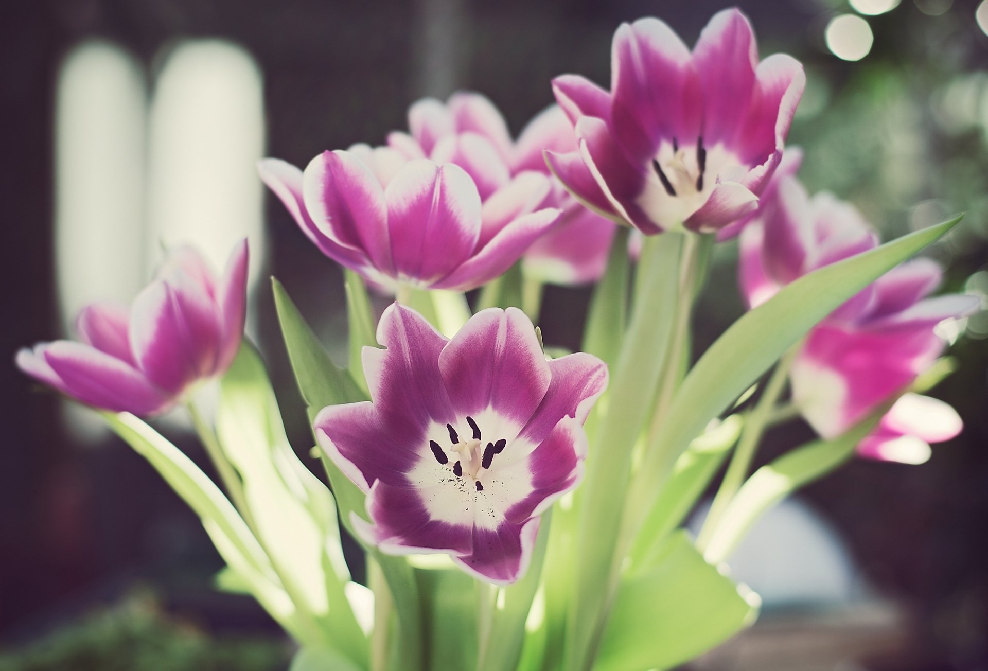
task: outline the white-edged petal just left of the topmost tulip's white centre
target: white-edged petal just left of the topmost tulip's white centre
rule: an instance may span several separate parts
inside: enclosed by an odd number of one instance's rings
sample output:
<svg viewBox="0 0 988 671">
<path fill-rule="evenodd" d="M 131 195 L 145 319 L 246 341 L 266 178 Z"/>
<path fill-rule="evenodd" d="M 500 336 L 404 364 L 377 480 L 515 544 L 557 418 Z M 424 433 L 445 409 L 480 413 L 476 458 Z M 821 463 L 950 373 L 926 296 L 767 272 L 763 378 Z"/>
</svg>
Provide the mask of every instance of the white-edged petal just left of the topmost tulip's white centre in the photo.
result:
<svg viewBox="0 0 988 671">
<path fill-rule="evenodd" d="M 652 235 L 661 228 L 635 204 L 645 187 L 644 165 L 632 164 L 617 145 L 610 129 L 595 117 L 584 117 L 576 125 L 580 155 L 611 209 L 635 228 Z"/>
</svg>

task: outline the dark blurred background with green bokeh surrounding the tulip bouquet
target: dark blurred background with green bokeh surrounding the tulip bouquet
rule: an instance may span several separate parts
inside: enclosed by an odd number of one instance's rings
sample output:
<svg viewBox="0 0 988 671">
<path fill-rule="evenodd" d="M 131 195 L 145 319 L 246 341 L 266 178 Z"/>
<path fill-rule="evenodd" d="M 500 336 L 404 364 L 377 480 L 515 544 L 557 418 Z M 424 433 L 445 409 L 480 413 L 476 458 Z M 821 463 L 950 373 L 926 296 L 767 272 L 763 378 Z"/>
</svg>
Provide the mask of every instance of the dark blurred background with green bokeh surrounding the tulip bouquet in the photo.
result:
<svg viewBox="0 0 988 671">
<path fill-rule="evenodd" d="M 822 39 L 829 17 L 851 11 L 844 3 L 738 4 L 756 27 L 763 56 L 785 50 L 807 66 L 809 87 L 790 141 L 806 149 L 802 177 L 810 190 L 826 188 L 855 201 L 886 239 L 932 223 L 938 212 L 967 210 L 962 230 L 933 254 L 948 266 L 950 290 L 988 288 L 988 37 L 974 21 L 976 3 L 957 0 L 931 16 L 921 11 L 931 11 L 930 0 L 923 7 L 902 0 L 868 19 L 875 42 L 857 63 L 834 57 Z M 579 72 L 609 82 L 610 42 L 619 22 L 659 16 L 692 44 L 723 6 L 705 0 L 4 3 L 0 288 L 8 318 L 0 355 L 8 353 L 10 363 L 0 377 L 0 644 L 37 640 L 96 605 L 113 603 L 134 584 L 153 586 L 166 611 L 212 633 L 277 635 L 249 601 L 208 591 L 219 559 L 196 518 L 151 468 L 116 440 L 81 448 L 72 428 L 58 420 L 59 401 L 38 393 L 13 366 L 19 347 L 50 339 L 59 328 L 52 111 L 58 66 L 70 48 L 93 37 L 118 42 L 153 82 L 162 55 L 182 39 L 237 42 L 263 72 L 268 154 L 304 165 L 325 148 L 382 141 L 389 129 L 405 125 L 405 110 L 417 97 L 446 96 L 455 88 L 487 94 L 517 132 L 551 102 L 552 76 Z M 436 16 L 445 19 L 429 19 Z M 453 40 L 437 35 L 444 26 L 453 27 Z M 429 70 L 428 54 L 436 49 L 444 63 L 438 75 Z M 951 86 L 973 91 L 963 98 L 966 107 L 957 103 L 962 97 L 950 96 Z M 897 148 L 903 139 L 914 149 L 905 157 Z M 334 337 L 333 315 L 343 301 L 338 269 L 279 204 L 269 203 L 267 213 L 268 270 L 319 330 Z M 732 245 L 718 249 L 698 315 L 700 349 L 742 309 L 735 253 Z M 256 305 L 259 339 L 289 436 L 302 451 L 310 437 L 265 290 L 262 284 Z M 577 345 L 586 299 L 586 290 L 549 290 L 541 319 L 547 340 Z M 963 416 L 962 436 L 936 446 L 923 466 L 856 461 L 805 491 L 810 505 L 839 529 L 867 581 L 908 614 L 907 642 L 893 655 L 898 661 L 881 668 L 988 669 L 988 357 L 982 339 L 988 326 L 972 320 L 971 328 L 953 348 L 959 371 L 935 390 Z M 801 426 L 777 431 L 761 457 L 809 435 Z M 205 461 L 193 441 L 173 437 Z"/>
</svg>

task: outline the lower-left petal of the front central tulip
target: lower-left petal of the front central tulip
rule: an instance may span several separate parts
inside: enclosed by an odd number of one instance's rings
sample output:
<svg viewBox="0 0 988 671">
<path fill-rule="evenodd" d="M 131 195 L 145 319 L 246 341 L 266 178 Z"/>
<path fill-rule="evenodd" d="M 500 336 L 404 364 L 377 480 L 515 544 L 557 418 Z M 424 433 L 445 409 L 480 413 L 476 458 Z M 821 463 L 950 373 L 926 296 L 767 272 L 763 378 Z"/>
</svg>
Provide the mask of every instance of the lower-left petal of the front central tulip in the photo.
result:
<svg viewBox="0 0 988 671">
<path fill-rule="evenodd" d="M 434 518 L 423 501 L 423 493 L 428 494 L 377 480 L 368 492 L 366 504 L 373 525 L 362 524 L 355 516 L 358 535 L 388 554 L 468 554 L 473 549 L 472 526 Z"/>
</svg>

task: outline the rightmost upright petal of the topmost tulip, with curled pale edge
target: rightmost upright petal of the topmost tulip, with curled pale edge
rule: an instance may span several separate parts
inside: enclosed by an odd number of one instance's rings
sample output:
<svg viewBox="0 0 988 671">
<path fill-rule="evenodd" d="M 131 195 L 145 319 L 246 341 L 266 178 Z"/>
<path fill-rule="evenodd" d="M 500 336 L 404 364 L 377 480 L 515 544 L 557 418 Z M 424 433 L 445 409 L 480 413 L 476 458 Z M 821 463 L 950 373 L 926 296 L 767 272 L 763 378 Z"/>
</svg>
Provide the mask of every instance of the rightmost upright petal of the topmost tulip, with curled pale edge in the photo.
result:
<svg viewBox="0 0 988 671">
<path fill-rule="evenodd" d="M 805 86 L 802 64 L 791 56 L 776 53 L 759 63 L 748 114 L 733 143 L 741 160 L 756 165 L 782 150 Z"/>
</svg>

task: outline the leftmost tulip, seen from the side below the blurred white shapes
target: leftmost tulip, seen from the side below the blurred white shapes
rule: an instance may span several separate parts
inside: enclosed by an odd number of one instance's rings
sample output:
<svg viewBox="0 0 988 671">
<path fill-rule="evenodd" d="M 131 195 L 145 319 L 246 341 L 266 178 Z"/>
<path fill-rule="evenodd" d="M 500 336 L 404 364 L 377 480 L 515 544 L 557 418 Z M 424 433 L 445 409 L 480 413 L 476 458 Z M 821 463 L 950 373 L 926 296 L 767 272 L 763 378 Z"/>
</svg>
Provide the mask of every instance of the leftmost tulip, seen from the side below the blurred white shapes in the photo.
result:
<svg viewBox="0 0 988 671">
<path fill-rule="evenodd" d="M 76 323 L 82 342 L 40 343 L 17 354 L 31 377 L 105 410 L 154 415 L 197 381 L 221 375 L 240 347 L 248 249 L 239 243 L 217 279 L 194 250 L 170 255 L 133 303 L 94 303 Z"/>
</svg>

